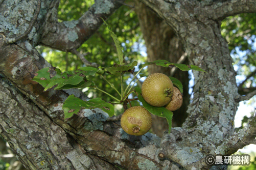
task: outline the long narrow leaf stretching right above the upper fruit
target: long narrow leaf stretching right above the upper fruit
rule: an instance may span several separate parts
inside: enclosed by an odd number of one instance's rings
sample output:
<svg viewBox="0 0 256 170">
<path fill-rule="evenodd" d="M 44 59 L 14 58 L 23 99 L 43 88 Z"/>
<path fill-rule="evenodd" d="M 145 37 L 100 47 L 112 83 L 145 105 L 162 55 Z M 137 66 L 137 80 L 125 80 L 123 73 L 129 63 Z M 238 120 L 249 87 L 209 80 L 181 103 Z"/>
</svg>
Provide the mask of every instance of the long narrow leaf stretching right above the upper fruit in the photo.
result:
<svg viewBox="0 0 256 170">
<path fill-rule="evenodd" d="M 176 66 L 182 71 L 197 70 L 197 71 L 203 71 L 206 73 L 206 71 L 199 68 L 198 66 L 194 66 L 194 65 L 189 66 L 189 65 L 184 65 L 184 64 L 170 63 L 166 60 L 156 60 L 154 62 L 148 62 L 148 63 L 143 64 L 142 67 L 152 65 L 152 64 L 155 64 L 157 66 L 162 66 L 162 67 L 170 67 L 170 68 Z"/>
</svg>

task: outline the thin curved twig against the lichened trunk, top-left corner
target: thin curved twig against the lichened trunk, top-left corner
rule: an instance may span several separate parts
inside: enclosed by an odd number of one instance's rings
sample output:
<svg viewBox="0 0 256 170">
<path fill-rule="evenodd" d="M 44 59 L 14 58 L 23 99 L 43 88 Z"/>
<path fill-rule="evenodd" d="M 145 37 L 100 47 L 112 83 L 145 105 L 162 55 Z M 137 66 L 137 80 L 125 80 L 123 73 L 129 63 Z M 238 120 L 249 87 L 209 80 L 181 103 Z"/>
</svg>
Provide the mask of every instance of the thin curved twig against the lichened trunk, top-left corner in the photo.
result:
<svg viewBox="0 0 256 170">
<path fill-rule="evenodd" d="M 23 34 L 21 34 L 21 35 L 19 35 L 19 36 L 17 36 L 17 37 L 14 37 L 14 38 L 7 38 L 7 39 L 6 39 L 6 42 L 7 42 L 8 44 L 16 43 L 16 42 L 18 42 L 19 40 L 21 40 L 21 39 L 23 39 L 23 38 L 25 38 L 25 37 L 27 37 L 27 36 L 29 35 L 29 33 L 30 33 L 31 30 L 33 29 L 33 26 L 34 26 L 34 24 L 35 24 L 35 22 L 36 22 L 36 19 L 37 19 L 37 16 L 38 16 L 39 12 L 40 12 L 40 9 L 41 9 L 41 0 L 38 0 L 38 1 L 37 1 L 36 11 L 35 11 L 35 13 L 34 13 L 33 18 L 32 18 L 31 21 L 30 21 L 30 24 L 29 24 L 28 29 L 27 29 Z"/>
</svg>

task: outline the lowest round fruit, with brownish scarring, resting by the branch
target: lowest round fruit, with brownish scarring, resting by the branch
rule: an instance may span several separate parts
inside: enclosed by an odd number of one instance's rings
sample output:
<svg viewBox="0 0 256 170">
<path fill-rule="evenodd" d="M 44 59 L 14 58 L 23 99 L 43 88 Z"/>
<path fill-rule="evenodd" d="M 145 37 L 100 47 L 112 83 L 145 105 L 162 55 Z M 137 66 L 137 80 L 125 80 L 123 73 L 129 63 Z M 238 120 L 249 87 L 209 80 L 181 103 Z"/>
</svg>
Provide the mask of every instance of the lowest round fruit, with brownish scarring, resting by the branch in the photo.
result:
<svg viewBox="0 0 256 170">
<path fill-rule="evenodd" d="M 146 108 L 134 106 L 125 110 L 121 118 L 121 126 L 128 134 L 144 135 L 151 129 L 152 117 Z"/>
</svg>

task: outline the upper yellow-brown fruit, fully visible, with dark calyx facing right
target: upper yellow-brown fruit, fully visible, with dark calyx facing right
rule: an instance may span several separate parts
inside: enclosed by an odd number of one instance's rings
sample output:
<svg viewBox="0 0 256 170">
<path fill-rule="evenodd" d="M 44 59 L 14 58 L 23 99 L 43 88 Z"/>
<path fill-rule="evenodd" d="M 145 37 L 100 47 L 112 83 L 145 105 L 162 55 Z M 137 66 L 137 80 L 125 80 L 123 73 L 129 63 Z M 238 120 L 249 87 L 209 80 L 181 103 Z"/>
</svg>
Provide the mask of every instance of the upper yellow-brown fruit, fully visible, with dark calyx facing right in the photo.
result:
<svg viewBox="0 0 256 170">
<path fill-rule="evenodd" d="M 172 95 L 173 83 L 165 74 L 151 74 L 142 84 L 142 97 L 152 106 L 161 107 L 168 104 Z"/>
</svg>

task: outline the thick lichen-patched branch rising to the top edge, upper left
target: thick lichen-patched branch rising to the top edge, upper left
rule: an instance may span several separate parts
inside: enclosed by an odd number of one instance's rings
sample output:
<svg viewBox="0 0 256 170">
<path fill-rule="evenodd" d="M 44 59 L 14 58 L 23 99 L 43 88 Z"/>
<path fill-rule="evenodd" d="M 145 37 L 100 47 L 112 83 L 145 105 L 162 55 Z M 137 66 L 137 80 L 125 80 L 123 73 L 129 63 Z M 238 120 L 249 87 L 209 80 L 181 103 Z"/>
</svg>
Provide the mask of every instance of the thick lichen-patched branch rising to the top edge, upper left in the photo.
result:
<svg viewBox="0 0 256 170">
<path fill-rule="evenodd" d="M 119 2 L 113 0 L 95 1 L 95 4 L 78 20 L 60 23 L 57 20 L 53 22 L 49 19 L 48 23 L 45 24 L 45 32 L 40 44 L 61 51 L 79 48 L 102 25 L 103 20 L 101 18 L 106 20 L 122 6 L 121 2 L 124 0 Z"/>
</svg>

